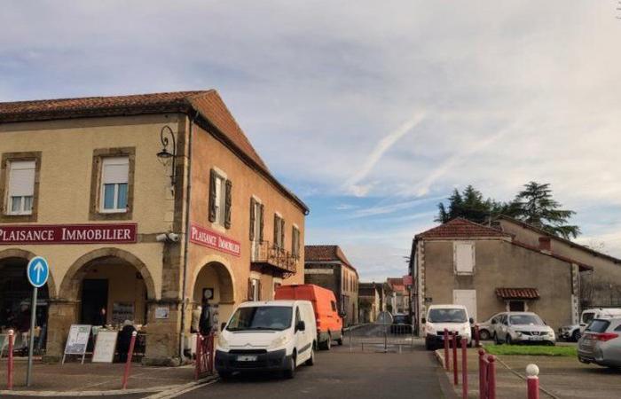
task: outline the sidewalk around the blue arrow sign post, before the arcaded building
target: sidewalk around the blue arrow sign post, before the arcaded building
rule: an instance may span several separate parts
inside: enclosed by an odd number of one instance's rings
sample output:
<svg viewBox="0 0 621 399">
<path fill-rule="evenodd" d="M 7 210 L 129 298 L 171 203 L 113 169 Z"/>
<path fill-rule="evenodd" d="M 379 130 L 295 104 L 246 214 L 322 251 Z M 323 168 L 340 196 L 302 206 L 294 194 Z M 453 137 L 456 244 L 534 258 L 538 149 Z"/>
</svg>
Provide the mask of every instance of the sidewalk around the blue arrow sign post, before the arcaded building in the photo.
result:
<svg viewBox="0 0 621 399">
<path fill-rule="evenodd" d="M 91 364 L 66 363 L 43 364 L 35 363 L 32 374 L 32 384 L 26 387 L 27 362 L 15 362 L 13 390 L 6 389 L 6 359 L 0 362 L 0 396 L 26 395 L 36 391 L 37 394 L 50 395 L 66 393 L 67 395 L 119 395 L 121 391 L 122 375 L 125 364 Z M 128 380 L 129 393 L 162 392 L 194 382 L 194 367 L 146 367 L 141 364 L 131 364 L 130 379 Z"/>
</svg>

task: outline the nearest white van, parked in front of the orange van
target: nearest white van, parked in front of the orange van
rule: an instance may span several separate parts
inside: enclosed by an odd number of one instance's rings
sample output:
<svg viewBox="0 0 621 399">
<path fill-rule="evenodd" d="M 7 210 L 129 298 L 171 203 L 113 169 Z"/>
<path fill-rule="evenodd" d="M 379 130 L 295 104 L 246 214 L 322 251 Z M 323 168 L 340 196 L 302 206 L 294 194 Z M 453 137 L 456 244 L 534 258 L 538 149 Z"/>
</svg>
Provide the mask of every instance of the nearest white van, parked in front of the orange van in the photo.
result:
<svg viewBox="0 0 621 399">
<path fill-rule="evenodd" d="M 295 367 L 315 363 L 317 328 L 310 301 L 253 301 L 237 308 L 223 327 L 216 346 L 216 371 L 282 371 L 293 378 Z"/>
</svg>

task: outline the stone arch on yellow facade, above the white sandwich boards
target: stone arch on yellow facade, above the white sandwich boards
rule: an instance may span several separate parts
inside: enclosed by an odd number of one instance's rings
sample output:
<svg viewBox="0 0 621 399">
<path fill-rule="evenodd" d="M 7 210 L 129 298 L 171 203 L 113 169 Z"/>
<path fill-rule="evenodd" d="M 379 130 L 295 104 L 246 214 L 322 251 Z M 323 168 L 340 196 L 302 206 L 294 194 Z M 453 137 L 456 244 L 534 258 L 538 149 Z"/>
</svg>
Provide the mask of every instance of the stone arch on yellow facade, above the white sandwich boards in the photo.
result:
<svg viewBox="0 0 621 399">
<path fill-rule="evenodd" d="M 136 270 L 138 270 L 142 278 L 145 280 L 147 299 L 156 299 L 156 291 L 153 277 L 151 276 L 151 272 L 149 272 L 145 263 L 138 259 L 138 257 L 134 254 L 123 251 L 119 248 L 109 247 L 99 248 L 89 252 L 88 254 L 83 254 L 82 256 L 80 256 L 71 265 L 69 270 L 67 270 L 65 278 L 63 278 L 62 283 L 59 287 L 59 297 L 66 300 L 75 301 L 80 293 L 80 284 L 82 282 L 82 279 L 86 274 L 86 268 L 84 268 L 84 266 L 96 259 L 108 257 L 121 259 L 122 261 L 128 262 L 132 266 L 134 266 Z"/>
</svg>

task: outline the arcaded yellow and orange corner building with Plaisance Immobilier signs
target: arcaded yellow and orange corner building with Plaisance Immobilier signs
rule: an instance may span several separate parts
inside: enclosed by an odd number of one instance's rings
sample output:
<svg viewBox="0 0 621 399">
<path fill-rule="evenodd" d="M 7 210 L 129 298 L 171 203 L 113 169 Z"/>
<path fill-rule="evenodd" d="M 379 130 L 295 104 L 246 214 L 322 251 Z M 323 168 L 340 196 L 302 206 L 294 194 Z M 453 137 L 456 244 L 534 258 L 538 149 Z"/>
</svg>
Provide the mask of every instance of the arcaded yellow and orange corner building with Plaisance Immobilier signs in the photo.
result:
<svg viewBox="0 0 621 399">
<path fill-rule="evenodd" d="M 215 90 L 0 103 L 0 154 L 0 327 L 28 304 L 28 259 L 45 257 L 51 358 L 70 325 L 129 319 L 145 363 L 178 364 L 199 304 L 217 328 L 303 282 L 308 208 Z"/>
</svg>

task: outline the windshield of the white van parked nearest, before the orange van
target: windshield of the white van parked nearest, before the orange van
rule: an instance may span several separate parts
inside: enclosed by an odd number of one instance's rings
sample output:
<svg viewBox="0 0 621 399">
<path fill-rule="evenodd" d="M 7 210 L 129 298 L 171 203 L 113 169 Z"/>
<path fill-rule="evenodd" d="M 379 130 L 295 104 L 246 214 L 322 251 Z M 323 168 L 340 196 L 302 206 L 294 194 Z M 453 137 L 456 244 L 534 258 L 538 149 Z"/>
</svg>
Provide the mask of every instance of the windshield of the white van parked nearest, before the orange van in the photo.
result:
<svg viewBox="0 0 621 399">
<path fill-rule="evenodd" d="M 227 331 L 274 330 L 282 331 L 291 326 L 291 307 L 252 306 L 239 308 L 231 317 Z"/>
</svg>

